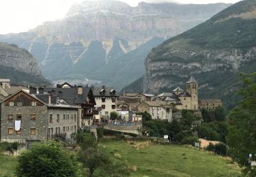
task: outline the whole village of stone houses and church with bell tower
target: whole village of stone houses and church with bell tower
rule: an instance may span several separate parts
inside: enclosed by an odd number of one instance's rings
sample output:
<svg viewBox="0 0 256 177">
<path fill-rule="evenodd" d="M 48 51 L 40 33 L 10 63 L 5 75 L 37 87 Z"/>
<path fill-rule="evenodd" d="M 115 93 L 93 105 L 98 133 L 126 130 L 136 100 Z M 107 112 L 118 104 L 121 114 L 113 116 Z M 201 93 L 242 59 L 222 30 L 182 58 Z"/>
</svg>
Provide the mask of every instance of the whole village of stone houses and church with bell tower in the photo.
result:
<svg viewBox="0 0 256 177">
<path fill-rule="evenodd" d="M 33 142 L 69 141 L 79 129 L 98 127 L 141 135 L 142 112 L 152 119 L 180 121 L 182 110 L 201 117 L 202 108 L 222 106 L 220 99 L 199 99 L 199 83 L 191 76 L 186 91 L 118 94 L 115 88 L 57 84 L 56 87 L 15 86 L 0 79 L 1 142 L 18 142 L 23 149 Z M 194 120 L 191 127 L 201 125 Z"/>
</svg>

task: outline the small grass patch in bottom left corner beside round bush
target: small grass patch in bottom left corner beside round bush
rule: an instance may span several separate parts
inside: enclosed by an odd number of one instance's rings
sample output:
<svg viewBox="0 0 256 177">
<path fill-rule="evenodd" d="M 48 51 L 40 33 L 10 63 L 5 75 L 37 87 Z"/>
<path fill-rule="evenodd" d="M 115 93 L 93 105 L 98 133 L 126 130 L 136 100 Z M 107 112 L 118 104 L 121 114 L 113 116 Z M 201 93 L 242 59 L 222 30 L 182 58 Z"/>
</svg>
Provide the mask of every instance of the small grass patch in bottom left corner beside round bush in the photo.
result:
<svg viewBox="0 0 256 177">
<path fill-rule="evenodd" d="M 0 176 L 14 176 L 15 167 L 17 164 L 16 157 L 8 155 L 0 155 Z"/>
</svg>

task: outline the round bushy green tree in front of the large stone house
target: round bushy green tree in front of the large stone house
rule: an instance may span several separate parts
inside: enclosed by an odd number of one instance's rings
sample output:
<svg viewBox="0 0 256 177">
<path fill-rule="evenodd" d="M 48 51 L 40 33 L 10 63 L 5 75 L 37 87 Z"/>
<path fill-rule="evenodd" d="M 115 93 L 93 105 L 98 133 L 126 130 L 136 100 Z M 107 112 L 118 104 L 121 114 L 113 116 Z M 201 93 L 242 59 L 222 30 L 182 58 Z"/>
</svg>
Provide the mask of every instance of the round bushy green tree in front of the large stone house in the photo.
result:
<svg viewBox="0 0 256 177">
<path fill-rule="evenodd" d="M 34 143 L 18 156 L 17 176 L 77 176 L 75 155 L 57 142 Z"/>
</svg>

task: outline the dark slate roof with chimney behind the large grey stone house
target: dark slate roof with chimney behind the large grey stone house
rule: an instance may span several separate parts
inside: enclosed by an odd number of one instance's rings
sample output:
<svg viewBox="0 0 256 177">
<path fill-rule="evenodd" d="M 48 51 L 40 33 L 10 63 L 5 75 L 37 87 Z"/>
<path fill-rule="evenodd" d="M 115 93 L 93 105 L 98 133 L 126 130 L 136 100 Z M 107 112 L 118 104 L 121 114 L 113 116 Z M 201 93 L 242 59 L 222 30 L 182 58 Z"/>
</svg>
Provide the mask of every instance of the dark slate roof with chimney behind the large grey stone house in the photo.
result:
<svg viewBox="0 0 256 177">
<path fill-rule="evenodd" d="M 79 95 L 77 93 L 77 89 L 79 87 L 72 87 L 72 88 L 44 88 L 44 93 L 48 93 L 48 91 L 52 92 L 55 91 L 53 97 L 57 97 L 59 95 L 59 91 L 62 92 L 61 99 L 64 99 L 68 104 L 81 104 L 85 102 L 85 99 L 88 97 L 89 91 L 91 91 L 90 87 L 82 87 L 83 93 Z M 53 92 L 52 92 L 53 93 Z"/>
</svg>

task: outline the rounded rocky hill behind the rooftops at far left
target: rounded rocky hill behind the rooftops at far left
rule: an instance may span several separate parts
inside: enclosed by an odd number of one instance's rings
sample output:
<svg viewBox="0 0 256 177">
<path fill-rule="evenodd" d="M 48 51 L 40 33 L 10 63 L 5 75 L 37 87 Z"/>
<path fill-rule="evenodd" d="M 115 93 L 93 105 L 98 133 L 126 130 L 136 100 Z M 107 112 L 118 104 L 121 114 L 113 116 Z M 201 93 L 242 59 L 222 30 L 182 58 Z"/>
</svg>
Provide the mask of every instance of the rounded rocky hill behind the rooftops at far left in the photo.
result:
<svg viewBox="0 0 256 177">
<path fill-rule="evenodd" d="M 0 43 L 0 76 L 9 78 L 12 84 L 51 84 L 42 76 L 32 54 L 15 44 Z"/>
</svg>

